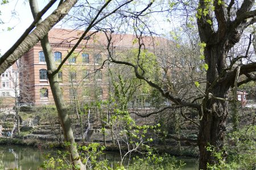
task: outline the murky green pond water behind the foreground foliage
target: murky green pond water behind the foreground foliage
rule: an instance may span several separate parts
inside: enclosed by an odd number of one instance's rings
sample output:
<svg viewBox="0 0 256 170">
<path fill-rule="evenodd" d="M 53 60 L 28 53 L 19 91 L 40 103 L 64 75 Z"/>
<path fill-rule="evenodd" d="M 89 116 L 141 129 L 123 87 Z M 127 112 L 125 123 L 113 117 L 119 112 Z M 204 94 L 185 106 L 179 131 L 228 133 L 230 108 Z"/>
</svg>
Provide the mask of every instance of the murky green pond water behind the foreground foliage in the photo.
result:
<svg viewBox="0 0 256 170">
<path fill-rule="evenodd" d="M 43 154 L 54 153 L 55 151 L 24 146 L 0 146 L 0 169 L 40 169 L 40 165 L 44 161 Z M 111 164 L 120 161 L 118 152 L 106 152 L 105 158 Z M 197 169 L 195 158 L 177 157 L 177 159 L 186 163 L 183 170 Z"/>
</svg>

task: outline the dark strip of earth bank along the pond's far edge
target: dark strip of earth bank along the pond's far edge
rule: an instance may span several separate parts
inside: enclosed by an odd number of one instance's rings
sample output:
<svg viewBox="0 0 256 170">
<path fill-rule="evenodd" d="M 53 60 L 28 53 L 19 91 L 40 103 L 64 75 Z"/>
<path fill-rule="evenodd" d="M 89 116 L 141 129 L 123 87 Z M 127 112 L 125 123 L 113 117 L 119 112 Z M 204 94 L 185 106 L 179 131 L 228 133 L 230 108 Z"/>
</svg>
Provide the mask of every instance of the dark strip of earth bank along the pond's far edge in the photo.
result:
<svg viewBox="0 0 256 170">
<path fill-rule="evenodd" d="M 78 145 L 82 145 L 82 142 L 77 142 Z M 104 143 L 100 143 L 102 146 Z M 30 147 L 36 147 L 36 148 L 45 148 L 45 149 L 64 149 L 65 146 L 62 143 L 58 142 L 52 142 L 52 141 L 41 141 L 38 139 L 18 139 L 18 138 L 6 138 L 1 137 L 0 138 L 0 145 L 18 145 L 18 146 L 30 146 Z M 85 146 L 88 146 L 89 142 L 85 143 Z M 162 145 L 154 145 L 151 146 L 155 152 L 158 154 L 169 154 L 172 156 L 191 156 L 191 157 L 197 157 L 199 152 L 197 147 L 174 147 L 174 146 L 162 146 Z M 121 150 L 123 152 L 127 151 L 126 146 L 121 146 Z M 113 145 L 112 143 L 107 143 L 105 151 L 113 151 L 113 152 L 119 152 L 118 145 Z M 146 150 L 139 150 L 141 152 L 144 152 Z"/>
</svg>

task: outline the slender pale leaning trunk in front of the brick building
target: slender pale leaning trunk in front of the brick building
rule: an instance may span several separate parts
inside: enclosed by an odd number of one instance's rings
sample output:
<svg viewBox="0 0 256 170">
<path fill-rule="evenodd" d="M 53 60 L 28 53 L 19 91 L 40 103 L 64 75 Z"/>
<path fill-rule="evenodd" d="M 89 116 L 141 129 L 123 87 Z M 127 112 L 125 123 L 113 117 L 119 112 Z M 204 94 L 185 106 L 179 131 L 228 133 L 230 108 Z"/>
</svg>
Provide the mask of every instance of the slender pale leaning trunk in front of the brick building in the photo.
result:
<svg viewBox="0 0 256 170">
<path fill-rule="evenodd" d="M 38 4 L 37 0 L 30 0 L 30 7 L 32 14 L 35 16 L 38 14 Z M 51 72 L 52 70 L 56 70 L 55 61 L 52 55 L 51 45 L 48 41 L 48 34 L 43 37 L 41 41 L 41 45 L 43 47 L 44 56 L 46 57 L 47 63 L 47 72 Z M 75 167 L 80 167 L 80 169 L 86 169 L 82 164 L 79 152 L 77 151 L 75 138 L 73 136 L 71 119 L 68 116 L 68 109 L 65 105 L 64 98 L 60 89 L 58 75 L 57 74 L 47 74 L 49 84 L 51 86 L 52 96 L 55 101 L 55 105 L 57 108 L 57 112 L 60 118 L 60 123 L 63 128 L 65 141 L 68 142 L 69 153 L 71 155 L 71 162 L 73 164 L 73 169 Z"/>
</svg>

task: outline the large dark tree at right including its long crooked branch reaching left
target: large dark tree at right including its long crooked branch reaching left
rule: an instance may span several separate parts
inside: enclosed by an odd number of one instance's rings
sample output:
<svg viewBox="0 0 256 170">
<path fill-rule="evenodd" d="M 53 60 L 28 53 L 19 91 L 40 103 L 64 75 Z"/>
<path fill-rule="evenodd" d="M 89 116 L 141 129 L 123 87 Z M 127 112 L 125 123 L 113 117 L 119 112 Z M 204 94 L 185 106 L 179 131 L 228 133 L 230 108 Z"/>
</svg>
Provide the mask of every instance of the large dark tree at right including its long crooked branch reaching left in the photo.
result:
<svg viewBox="0 0 256 170">
<path fill-rule="evenodd" d="M 174 1 L 175 2 L 175 1 Z M 180 2 L 176 2 L 180 3 Z M 189 2 L 182 3 L 183 6 Z M 169 4 L 174 7 L 174 4 Z M 137 44 L 140 48 L 138 52 L 138 62 L 129 62 L 118 60 L 118 57 L 112 53 L 112 36 L 108 36 L 109 56 L 112 62 L 129 65 L 134 68 L 135 75 L 139 79 L 145 80 L 150 86 L 158 89 L 158 91 L 167 99 L 171 100 L 176 107 L 193 108 L 200 116 L 200 130 L 198 135 L 198 145 L 200 150 L 200 169 L 207 169 L 207 163 L 215 163 L 211 152 L 207 151 L 208 145 L 214 146 L 220 151 L 224 145 L 225 123 L 228 116 L 228 104 L 230 90 L 234 86 L 241 86 L 250 80 L 255 80 L 253 74 L 256 71 L 256 62 L 243 64 L 240 62 L 242 58 L 249 57 L 249 47 L 245 49 L 245 53 L 241 56 L 233 56 L 230 58 L 230 49 L 240 41 L 243 31 L 255 22 L 256 10 L 253 9 L 254 1 L 204 1 L 191 3 L 193 8 L 197 8 L 196 20 L 197 30 L 200 36 L 201 56 L 203 67 L 206 71 L 206 85 L 204 91 L 199 98 L 187 100 L 181 96 L 177 96 L 172 91 L 166 91 L 161 84 L 154 79 L 148 77 L 141 63 L 141 51 L 143 50 L 147 40 L 142 35 L 148 30 L 147 25 L 143 25 L 141 19 L 143 14 L 133 13 L 130 15 L 135 19 L 133 27 L 137 33 Z M 188 6 L 189 8 L 189 6 Z M 187 10 L 188 11 L 188 10 Z M 188 11 L 189 12 L 189 11 Z M 191 13 L 193 14 L 193 13 Z M 191 15 L 189 14 L 189 15 Z M 129 16 L 123 15 L 123 18 Z M 144 27 L 143 27 L 144 26 Z M 143 29 L 144 28 L 144 29 Z M 248 41 L 249 42 L 249 41 Z M 250 44 L 250 43 L 249 43 Z M 170 51 L 170 53 L 172 53 Z M 245 75 L 246 79 L 239 82 L 239 77 Z M 238 82 L 237 82 L 238 80 Z M 199 82 L 195 82 L 195 86 L 199 87 Z M 234 88 L 236 89 L 236 88 Z M 192 102 L 191 102 L 192 101 Z"/>
</svg>

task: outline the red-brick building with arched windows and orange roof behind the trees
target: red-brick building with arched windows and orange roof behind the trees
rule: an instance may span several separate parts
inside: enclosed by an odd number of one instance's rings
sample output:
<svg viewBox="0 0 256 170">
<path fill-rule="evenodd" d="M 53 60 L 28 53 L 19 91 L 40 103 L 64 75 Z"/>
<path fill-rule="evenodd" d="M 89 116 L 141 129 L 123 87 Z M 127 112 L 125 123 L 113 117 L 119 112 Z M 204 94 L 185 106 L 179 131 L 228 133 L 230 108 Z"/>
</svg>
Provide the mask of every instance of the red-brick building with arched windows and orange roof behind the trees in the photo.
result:
<svg viewBox="0 0 256 170">
<path fill-rule="evenodd" d="M 53 56 L 58 65 L 68 54 L 79 39 L 82 31 L 68 29 L 52 29 L 48 33 Z M 134 35 L 114 35 L 113 47 L 123 51 L 137 47 Z M 82 100 L 93 97 L 105 99 L 108 96 L 108 74 L 106 66 L 98 70 L 105 59 L 108 58 L 105 33 L 97 32 L 93 36 L 86 36 L 77 46 L 75 52 L 69 57 L 58 73 L 64 99 L 71 101 L 76 96 Z M 153 47 L 151 37 L 144 37 L 144 45 Z M 53 97 L 47 80 L 47 66 L 40 42 L 31 48 L 22 57 L 22 62 L 29 67 L 28 74 L 31 83 L 31 101 L 35 105 L 53 104 Z"/>
</svg>

